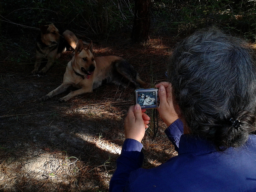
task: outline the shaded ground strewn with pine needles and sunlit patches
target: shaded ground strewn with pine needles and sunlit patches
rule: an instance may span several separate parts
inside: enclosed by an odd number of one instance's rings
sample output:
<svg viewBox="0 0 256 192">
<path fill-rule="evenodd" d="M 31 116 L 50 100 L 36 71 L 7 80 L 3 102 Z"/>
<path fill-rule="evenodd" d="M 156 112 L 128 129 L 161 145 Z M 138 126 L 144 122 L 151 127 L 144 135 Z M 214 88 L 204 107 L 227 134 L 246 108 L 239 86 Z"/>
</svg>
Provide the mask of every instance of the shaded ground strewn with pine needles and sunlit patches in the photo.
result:
<svg viewBox="0 0 256 192">
<path fill-rule="evenodd" d="M 39 98 L 62 82 L 68 50 L 44 76 L 34 68 L 34 35 L 4 40 L 0 53 L 0 191 L 2 192 L 105 192 L 124 142 L 124 118 L 133 104 L 134 87 L 105 85 L 66 103 Z M 148 44 L 130 44 L 116 34 L 92 39 L 95 56 L 126 58 L 151 88 L 165 81 L 166 61 L 177 39 L 151 37 Z M 148 110 L 152 115 L 152 110 Z M 144 168 L 162 164 L 176 155 L 159 122 L 152 123 L 143 140 Z"/>
</svg>

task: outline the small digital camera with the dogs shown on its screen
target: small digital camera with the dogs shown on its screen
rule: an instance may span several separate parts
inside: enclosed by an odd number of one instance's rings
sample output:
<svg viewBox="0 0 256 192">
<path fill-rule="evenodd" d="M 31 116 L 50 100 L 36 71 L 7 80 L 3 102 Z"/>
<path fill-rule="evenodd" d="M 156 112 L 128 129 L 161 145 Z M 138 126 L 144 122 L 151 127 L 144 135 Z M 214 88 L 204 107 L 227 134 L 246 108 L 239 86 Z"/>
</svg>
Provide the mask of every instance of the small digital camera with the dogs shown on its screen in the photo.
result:
<svg viewBox="0 0 256 192">
<path fill-rule="evenodd" d="M 134 103 L 140 104 L 142 109 L 158 108 L 158 88 L 136 89 L 134 91 Z"/>
</svg>

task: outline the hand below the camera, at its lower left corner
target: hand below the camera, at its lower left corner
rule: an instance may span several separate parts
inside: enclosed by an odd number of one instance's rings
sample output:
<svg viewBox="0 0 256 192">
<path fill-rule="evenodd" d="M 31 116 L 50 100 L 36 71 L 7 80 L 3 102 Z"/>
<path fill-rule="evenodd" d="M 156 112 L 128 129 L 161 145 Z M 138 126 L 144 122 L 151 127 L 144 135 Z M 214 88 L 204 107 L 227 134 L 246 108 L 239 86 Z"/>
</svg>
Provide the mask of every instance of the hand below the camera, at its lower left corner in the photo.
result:
<svg viewBox="0 0 256 192">
<path fill-rule="evenodd" d="M 126 139 L 135 139 L 141 142 L 145 130 L 148 128 L 150 117 L 141 110 L 140 105 L 130 106 L 127 116 L 124 120 L 124 132 Z"/>
</svg>

